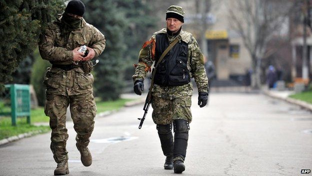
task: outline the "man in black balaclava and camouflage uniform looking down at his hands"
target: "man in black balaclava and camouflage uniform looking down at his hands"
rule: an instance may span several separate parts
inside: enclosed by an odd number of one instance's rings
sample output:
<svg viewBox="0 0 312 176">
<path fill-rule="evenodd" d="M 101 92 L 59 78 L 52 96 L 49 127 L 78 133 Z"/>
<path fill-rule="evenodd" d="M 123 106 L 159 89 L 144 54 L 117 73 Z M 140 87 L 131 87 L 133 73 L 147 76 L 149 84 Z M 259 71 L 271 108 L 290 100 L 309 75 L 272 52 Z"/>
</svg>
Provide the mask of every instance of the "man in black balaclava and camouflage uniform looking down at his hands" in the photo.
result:
<svg viewBox="0 0 312 176">
<path fill-rule="evenodd" d="M 65 127 L 69 104 L 81 162 L 84 166 L 92 163 L 87 148 L 96 114 L 91 59 L 104 50 L 105 38 L 84 21 L 84 9 L 81 1 L 70 1 L 62 17 L 48 26 L 40 36 L 38 44 L 42 59 L 52 64 L 51 68 L 47 68 L 43 83 L 46 86 L 44 113 L 50 117 L 52 129 L 50 148 L 57 163 L 54 175 L 69 173 L 66 151 L 68 134 Z M 78 51 L 82 45 L 87 46 L 87 56 Z"/>
</svg>

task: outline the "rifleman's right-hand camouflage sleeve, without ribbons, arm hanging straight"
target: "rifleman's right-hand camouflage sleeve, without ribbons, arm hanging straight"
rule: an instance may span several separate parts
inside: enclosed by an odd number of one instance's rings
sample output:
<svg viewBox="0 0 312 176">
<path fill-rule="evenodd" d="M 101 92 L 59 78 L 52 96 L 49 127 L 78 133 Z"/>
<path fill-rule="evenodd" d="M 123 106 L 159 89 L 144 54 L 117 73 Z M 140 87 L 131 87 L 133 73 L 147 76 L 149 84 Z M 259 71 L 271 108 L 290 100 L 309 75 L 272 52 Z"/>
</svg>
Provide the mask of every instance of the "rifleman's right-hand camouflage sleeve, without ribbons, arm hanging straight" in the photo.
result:
<svg viewBox="0 0 312 176">
<path fill-rule="evenodd" d="M 203 65 L 203 55 L 199 49 L 197 41 L 192 37 L 189 43 L 191 51 L 191 72 L 193 74 L 198 92 L 208 93 L 208 78 Z"/>
</svg>

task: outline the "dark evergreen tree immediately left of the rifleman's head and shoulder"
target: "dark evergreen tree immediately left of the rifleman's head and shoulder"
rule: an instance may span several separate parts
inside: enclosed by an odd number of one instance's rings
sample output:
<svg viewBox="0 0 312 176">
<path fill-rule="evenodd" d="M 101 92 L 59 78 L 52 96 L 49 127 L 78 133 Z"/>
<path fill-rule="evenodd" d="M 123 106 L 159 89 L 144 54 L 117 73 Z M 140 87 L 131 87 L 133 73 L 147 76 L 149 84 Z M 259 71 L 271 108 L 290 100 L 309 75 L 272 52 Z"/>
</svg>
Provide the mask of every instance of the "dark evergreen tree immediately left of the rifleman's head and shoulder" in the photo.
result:
<svg viewBox="0 0 312 176">
<path fill-rule="evenodd" d="M 118 0 L 118 9 L 124 12 L 126 17 L 126 27 L 124 31 L 125 41 L 127 46 L 124 58 L 124 79 L 132 80 L 134 73 L 134 63 L 137 63 L 138 52 L 143 43 L 149 39 L 156 26 L 155 21 L 158 21 L 153 14 L 152 7 L 146 1 L 141 0 Z"/>
</svg>

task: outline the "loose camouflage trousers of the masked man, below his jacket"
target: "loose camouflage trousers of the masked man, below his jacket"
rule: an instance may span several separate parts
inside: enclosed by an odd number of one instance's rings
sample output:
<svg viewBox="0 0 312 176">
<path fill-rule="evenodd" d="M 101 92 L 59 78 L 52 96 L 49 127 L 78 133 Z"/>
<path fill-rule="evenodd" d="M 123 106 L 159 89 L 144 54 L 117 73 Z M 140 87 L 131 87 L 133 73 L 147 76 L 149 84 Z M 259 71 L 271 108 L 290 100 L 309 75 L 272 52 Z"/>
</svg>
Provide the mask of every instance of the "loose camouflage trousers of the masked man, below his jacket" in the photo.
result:
<svg viewBox="0 0 312 176">
<path fill-rule="evenodd" d="M 46 94 L 44 113 L 50 117 L 50 128 L 52 129 L 50 148 L 56 163 L 68 160 L 66 151 L 68 134 L 65 123 L 69 104 L 78 146 L 88 145 L 94 127 L 96 105 L 92 93 L 70 96 Z"/>
</svg>

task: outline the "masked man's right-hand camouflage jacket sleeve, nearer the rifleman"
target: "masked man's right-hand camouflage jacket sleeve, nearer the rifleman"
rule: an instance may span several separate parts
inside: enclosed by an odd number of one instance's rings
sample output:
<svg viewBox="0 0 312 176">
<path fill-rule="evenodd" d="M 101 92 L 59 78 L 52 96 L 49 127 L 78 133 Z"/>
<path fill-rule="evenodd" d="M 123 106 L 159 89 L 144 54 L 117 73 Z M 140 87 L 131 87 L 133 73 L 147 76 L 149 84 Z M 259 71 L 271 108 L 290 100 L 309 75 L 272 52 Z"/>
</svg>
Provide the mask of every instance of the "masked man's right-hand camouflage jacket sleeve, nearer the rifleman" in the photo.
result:
<svg viewBox="0 0 312 176">
<path fill-rule="evenodd" d="M 106 46 L 105 41 L 104 35 L 94 27 L 94 36 L 90 46 L 95 52 L 94 58 L 98 57 L 104 51 Z"/>
</svg>

